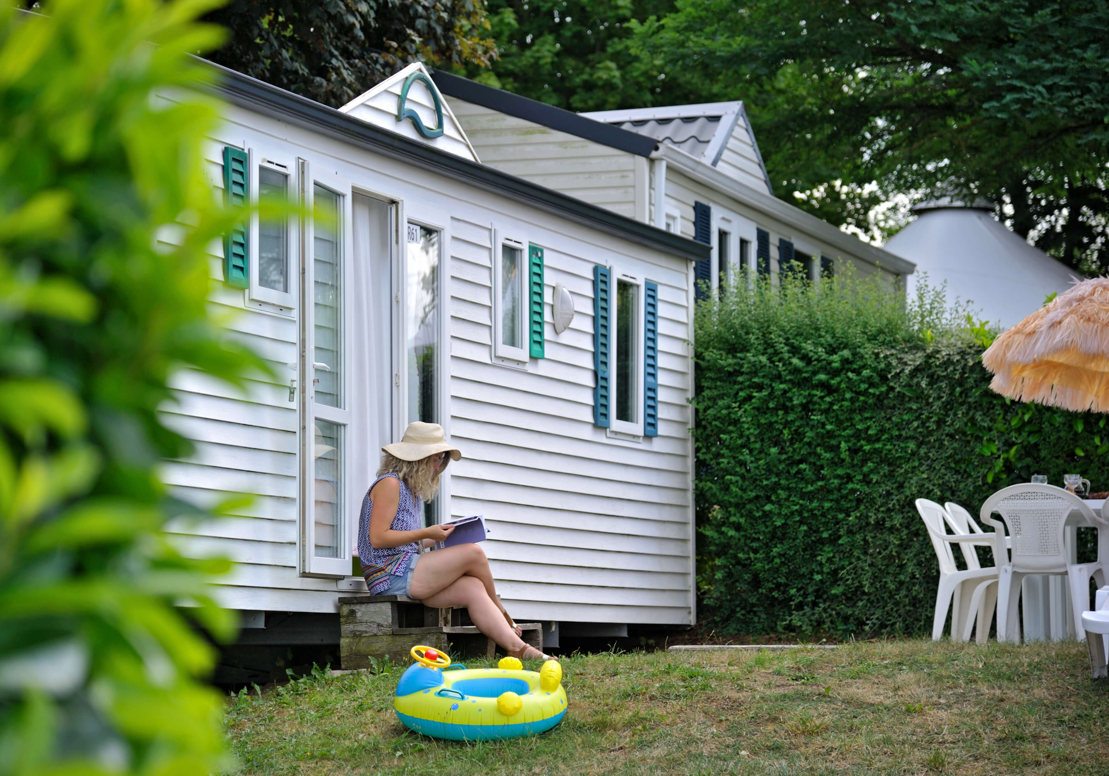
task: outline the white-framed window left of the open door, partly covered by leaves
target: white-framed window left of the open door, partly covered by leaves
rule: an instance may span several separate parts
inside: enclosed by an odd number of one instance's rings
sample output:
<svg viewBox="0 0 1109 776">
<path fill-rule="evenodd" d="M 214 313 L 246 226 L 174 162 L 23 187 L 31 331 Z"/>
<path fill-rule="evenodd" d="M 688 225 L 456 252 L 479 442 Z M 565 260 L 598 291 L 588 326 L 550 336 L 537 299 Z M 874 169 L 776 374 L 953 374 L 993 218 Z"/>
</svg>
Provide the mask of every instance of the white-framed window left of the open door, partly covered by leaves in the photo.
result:
<svg viewBox="0 0 1109 776">
<path fill-rule="evenodd" d="M 297 187 L 295 160 L 267 150 L 251 147 L 250 164 L 251 202 L 260 200 L 288 201 Z M 296 299 L 294 246 L 297 224 L 288 215 L 251 216 L 250 284 L 247 303 L 268 312 L 292 315 Z"/>
</svg>

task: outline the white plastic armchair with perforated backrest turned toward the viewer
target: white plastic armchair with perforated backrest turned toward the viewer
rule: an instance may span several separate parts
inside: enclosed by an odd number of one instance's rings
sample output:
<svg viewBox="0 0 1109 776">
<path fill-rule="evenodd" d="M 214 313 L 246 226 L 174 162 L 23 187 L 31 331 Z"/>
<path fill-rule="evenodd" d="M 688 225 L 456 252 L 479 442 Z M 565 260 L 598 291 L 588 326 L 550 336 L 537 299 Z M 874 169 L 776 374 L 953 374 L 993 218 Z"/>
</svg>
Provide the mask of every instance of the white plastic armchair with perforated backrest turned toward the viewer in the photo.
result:
<svg viewBox="0 0 1109 776">
<path fill-rule="evenodd" d="M 1082 611 L 1089 601 L 1090 576 L 1105 583 L 1101 561 L 1093 563 L 1070 563 L 1067 558 L 1065 525 L 1067 517 L 1078 511 L 1091 525 L 1101 525 L 1101 518 L 1095 515 L 1085 501 L 1062 488 L 1047 484 L 1017 484 L 1003 488 L 981 506 L 978 513 L 984 523 L 1000 525 L 991 517 L 1001 515 L 1011 538 L 1009 561 L 998 572 L 997 583 L 997 640 L 1020 643 L 1020 621 L 1017 604 L 1020 598 L 1020 581 L 1027 574 L 1066 575 L 1070 585 L 1070 600 L 1075 614 L 1075 635 L 1086 639 L 1081 625 Z M 1004 557 L 1004 544 L 995 539 L 995 558 Z"/>
</svg>

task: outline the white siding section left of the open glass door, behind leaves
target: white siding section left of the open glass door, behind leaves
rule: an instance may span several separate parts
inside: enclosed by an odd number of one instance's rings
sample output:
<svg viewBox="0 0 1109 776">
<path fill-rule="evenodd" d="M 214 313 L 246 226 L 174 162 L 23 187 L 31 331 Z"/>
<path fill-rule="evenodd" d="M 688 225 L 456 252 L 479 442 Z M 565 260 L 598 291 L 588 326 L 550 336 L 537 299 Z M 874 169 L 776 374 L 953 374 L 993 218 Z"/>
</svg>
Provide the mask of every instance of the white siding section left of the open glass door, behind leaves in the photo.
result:
<svg viewBox="0 0 1109 776">
<path fill-rule="evenodd" d="M 236 127 L 226 143 L 213 141 L 205 149 L 205 171 L 221 197 L 223 146 L 242 144 L 246 132 Z M 220 589 L 226 606 L 334 611 L 334 580 L 297 575 L 297 405 L 288 400 L 294 372 L 286 366 L 296 361 L 297 323 L 246 308 L 244 292 L 222 282 L 221 255 L 213 253 L 210 267 L 210 309 L 235 339 L 266 359 L 275 377 L 260 376 L 245 391 L 192 370 L 173 377 L 176 404 L 164 407 L 163 417 L 196 441 L 196 451 L 186 461 L 165 463 L 164 481 L 174 496 L 205 507 L 235 493 L 251 493 L 254 501 L 227 519 L 202 524 L 182 519 L 170 530 L 186 553 L 236 561 Z M 283 379 L 284 385 L 272 381 Z"/>
</svg>

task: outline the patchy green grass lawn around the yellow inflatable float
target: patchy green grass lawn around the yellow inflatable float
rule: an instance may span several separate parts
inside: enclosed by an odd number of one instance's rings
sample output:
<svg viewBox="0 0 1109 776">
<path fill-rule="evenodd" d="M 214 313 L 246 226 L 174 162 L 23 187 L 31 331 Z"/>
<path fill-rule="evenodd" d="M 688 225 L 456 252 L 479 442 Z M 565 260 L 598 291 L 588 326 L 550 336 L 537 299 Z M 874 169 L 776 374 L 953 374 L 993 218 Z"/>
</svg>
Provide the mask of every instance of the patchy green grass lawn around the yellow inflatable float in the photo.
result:
<svg viewBox="0 0 1109 776">
<path fill-rule="evenodd" d="M 562 666 L 569 714 L 535 738 L 407 732 L 395 667 L 233 697 L 231 746 L 245 774 L 1109 773 L 1109 682 L 1089 678 L 1075 643 L 891 641 Z"/>
</svg>

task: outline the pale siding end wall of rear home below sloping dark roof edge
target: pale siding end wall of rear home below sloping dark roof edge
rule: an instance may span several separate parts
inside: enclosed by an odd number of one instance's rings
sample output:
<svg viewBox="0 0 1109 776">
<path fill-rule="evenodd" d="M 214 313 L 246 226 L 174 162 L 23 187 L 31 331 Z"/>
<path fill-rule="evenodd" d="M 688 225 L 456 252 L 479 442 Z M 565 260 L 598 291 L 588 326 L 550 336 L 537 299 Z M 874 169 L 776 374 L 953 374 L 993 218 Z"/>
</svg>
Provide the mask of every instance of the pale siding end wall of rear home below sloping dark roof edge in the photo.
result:
<svg viewBox="0 0 1109 776">
<path fill-rule="evenodd" d="M 637 217 L 633 154 L 445 96 L 485 164 Z"/>
</svg>

